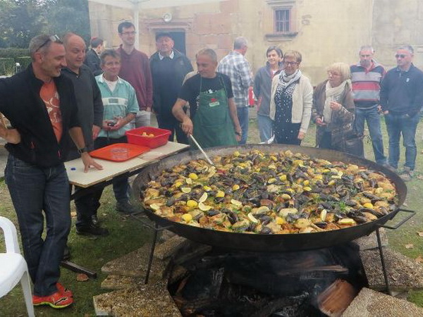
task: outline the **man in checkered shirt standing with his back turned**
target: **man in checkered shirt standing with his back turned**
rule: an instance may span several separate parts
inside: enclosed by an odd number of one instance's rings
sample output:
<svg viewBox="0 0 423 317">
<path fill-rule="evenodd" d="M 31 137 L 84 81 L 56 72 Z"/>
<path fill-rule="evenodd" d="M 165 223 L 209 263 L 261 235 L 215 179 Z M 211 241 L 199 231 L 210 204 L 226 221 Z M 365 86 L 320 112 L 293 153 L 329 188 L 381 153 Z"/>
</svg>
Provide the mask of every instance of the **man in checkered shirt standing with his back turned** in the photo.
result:
<svg viewBox="0 0 423 317">
<path fill-rule="evenodd" d="M 231 78 L 233 97 L 240 121 L 242 136 L 240 144 L 247 142 L 248 135 L 248 88 L 252 86 L 250 64 L 244 57 L 248 43 L 245 37 L 237 37 L 233 42 L 233 51 L 219 62 L 217 71 Z"/>
</svg>

